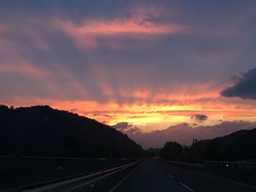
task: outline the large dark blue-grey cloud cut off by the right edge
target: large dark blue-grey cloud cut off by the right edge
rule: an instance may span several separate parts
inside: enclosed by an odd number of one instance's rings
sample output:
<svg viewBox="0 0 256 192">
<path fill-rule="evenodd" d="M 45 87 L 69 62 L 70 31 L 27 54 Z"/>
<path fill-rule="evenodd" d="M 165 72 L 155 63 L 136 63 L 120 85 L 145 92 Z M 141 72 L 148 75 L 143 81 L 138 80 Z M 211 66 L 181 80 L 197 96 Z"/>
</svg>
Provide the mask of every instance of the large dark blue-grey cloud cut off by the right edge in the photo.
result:
<svg viewBox="0 0 256 192">
<path fill-rule="evenodd" d="M 221 95 L 243 99 L 256 99 L 256 67 L 242 74 L 241 77 L 236 77 L 235 85 L 223 90 Z"/>
</svg>

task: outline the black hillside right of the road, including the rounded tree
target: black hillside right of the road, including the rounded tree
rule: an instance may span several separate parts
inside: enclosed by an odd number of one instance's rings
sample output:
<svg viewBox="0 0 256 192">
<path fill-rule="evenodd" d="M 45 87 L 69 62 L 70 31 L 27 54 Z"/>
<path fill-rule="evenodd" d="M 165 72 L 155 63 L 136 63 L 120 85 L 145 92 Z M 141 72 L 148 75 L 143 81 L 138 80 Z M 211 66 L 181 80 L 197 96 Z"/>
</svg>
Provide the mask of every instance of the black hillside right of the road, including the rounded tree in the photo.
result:
<svg viewBox="0 0 256 192">
<path fill-rule="evenodd" d="M 159 152 L 161 158 L 189 163 L 204 161 L 241 161 L 256 159 L 256 128 L 236 131 L 215 139 L 194 142 L 190 147 L 166 142 Z"/>
</svg>

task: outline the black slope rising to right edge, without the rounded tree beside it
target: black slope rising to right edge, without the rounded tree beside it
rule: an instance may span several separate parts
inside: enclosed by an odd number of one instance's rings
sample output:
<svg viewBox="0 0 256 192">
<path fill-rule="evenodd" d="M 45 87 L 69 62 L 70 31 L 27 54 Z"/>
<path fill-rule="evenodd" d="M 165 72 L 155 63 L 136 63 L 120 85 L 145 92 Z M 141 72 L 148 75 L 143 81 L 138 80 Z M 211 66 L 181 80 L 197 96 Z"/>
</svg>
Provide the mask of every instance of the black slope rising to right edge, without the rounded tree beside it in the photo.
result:
<svg viewBox="0 0 256 192">
<path fill-rule="evenodd" d="M 238 161 L 256 159 L 256 128 L 240 130 L 224 137 L 201 140 L 192 145 L 192 159 L 195 162 Z"/>
</svg>

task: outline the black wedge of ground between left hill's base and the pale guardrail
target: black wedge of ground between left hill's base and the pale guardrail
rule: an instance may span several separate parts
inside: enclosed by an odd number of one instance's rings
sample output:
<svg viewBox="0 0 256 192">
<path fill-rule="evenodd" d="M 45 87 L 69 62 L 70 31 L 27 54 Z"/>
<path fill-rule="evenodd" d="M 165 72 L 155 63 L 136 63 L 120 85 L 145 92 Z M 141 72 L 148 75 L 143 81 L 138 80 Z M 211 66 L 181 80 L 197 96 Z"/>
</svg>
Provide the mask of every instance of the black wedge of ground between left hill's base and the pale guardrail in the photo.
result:
<svg viewBox="0 0 256 192">
<path fill-rule="evenodd" d="M 0 191 L 48 180 L 92 174 L 138 161 L 138 158 L 63 158 L 0 156 Z"/>
</svg>

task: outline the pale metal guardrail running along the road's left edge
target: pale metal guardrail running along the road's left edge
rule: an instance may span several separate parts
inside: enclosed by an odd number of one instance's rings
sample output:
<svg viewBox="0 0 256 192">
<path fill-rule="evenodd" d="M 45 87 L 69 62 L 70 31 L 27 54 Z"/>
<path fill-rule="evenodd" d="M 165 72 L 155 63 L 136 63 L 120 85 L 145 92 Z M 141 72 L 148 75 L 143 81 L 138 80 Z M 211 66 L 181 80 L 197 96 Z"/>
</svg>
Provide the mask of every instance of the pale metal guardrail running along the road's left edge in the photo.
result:
<svg viewBox="0 0 256 192">
<path fill-rule="evenodd" d="M 79 175 L 73 177 L 66 177 L 63 180 L 59 181 L 48 181 L 45 183 L 36 183 L 33 185 L 26 185 L 20 188 L 8 189 L 2 192 L 10 192 L 10 191 L 23 191 L 23 192 L 47 192 L 47 191 L 76 191 L 80 188 L 85 187 L 91 183 L 94 183 L 97 180 L 108 177 L 111 174 L 115 174 L 117 172 L 121 172 L 124 169 L 128 169 L 132 166 L 138 164 L 141 160 L 135 161 L 130 164 L 125 164 L 123 166 L 117 166 L 111 169 L 106 169 L 98 172 L 94 172 L 86 175 Z"/>
</svg>

